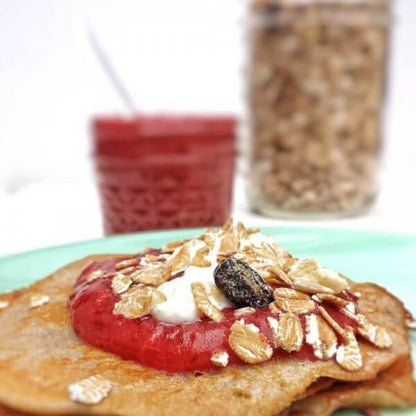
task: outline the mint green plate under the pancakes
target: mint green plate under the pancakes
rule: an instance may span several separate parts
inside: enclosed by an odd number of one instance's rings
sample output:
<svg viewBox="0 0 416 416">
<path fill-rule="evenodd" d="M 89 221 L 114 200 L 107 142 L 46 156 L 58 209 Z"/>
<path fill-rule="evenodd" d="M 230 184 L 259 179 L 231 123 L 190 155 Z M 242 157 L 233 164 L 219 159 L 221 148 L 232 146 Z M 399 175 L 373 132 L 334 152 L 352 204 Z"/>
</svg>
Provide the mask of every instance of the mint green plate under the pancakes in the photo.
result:
<svg viewBox="0 0 416 416">
<path fill-rule="evenodd" d="M 416 314 L 416 235 L 297 227 L 264 227 L 298 257 L 317 257 L 355 281 L 372 281 L 402 299 Z M 94 253 L 134 253 L 192 237 L 201 230 L 172 230 L 108 237 L 0 257 L 0 291 L 27 286 L 64 264 Z M 416 363 L 416 334 L 411 334 Z M 352 416 L 343 411 L 338 415 Z M 416 410 L 383 411 L 383 415 L 416 416 Z"/>
</svg>

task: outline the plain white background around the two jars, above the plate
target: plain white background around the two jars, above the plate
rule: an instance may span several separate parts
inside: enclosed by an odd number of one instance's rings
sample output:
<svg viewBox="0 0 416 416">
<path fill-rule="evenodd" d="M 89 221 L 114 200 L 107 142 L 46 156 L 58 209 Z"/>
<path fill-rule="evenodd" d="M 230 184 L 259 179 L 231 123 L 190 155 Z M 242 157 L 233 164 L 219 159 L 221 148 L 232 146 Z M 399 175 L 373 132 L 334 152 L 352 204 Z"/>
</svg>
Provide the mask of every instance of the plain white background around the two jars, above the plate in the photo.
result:
<svg viewBox="0 0 416 416">
<path fill-rule="evenodd" d="M 0 255 L 103 235 L 89 121 L 127 114 L 88 40 L 95 33 L 137 109 L 234 114 L 244 132 L 247 1 L 0 0 Z M 360 216 L 250 212 L 240 158 L 232 214 L 248 225 L 416 232 L 416 2 L 396 0 L 381 192 Z"/>
</svg>

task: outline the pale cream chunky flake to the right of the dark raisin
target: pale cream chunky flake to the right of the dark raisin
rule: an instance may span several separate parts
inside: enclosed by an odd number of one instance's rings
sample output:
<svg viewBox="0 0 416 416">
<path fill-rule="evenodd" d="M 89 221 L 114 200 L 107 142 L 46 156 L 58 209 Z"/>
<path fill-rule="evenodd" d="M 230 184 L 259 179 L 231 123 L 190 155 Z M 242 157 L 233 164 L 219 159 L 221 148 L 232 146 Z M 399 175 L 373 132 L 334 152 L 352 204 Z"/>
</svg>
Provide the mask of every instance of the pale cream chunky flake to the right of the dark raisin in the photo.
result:
<svg viewBox="0 0 416 416">
<path fill-rule="evenodd" d="M 347 279 L 340 276 L 336 271 L 322 267 L 316 259 L 298 260 L 292 265 L 288 276 L 293 281 L 309 281 L 331 289 L 332 293 L 339 293 L 348 288 Z M 323 291 L 323 293 L 329 293 Z"/>
</svg>

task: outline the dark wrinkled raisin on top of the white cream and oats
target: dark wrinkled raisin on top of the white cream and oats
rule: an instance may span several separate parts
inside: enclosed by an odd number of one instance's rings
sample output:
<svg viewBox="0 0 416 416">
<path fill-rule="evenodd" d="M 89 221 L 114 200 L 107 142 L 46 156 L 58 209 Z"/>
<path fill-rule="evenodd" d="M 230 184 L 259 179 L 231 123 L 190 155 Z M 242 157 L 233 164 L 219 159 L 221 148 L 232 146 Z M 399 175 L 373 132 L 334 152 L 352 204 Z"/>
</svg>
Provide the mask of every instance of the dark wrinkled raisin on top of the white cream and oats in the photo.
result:
<svg viewBox="0 0 416 416">
<path fill-rule="evenodd" d="M 247 263 L 234 257 L 218 264 L 214 279 L 225 296 L 238 307 L 264 307 L 273 302 L 270 286 Z"/>
</svg>

